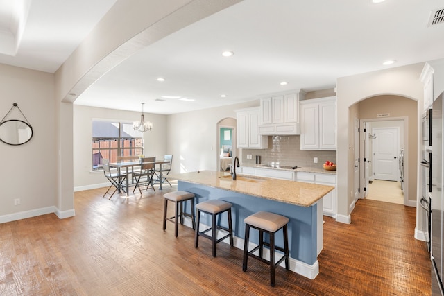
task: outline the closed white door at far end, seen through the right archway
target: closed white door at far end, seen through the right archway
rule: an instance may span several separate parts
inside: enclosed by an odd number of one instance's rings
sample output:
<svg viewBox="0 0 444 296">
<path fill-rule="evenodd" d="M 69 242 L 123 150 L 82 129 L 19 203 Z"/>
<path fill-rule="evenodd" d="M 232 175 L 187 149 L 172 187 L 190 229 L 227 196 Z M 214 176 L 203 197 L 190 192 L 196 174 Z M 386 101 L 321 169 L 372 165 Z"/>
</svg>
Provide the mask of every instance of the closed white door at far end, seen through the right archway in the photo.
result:
<svg viewBox="0 0 444 296">
<path fill-rule="evenodd" d="M 400 129 L 373 128 L 373 169 L 375 179 L 398 181 L 398 157 L 400 146 Z"/>
</svg>

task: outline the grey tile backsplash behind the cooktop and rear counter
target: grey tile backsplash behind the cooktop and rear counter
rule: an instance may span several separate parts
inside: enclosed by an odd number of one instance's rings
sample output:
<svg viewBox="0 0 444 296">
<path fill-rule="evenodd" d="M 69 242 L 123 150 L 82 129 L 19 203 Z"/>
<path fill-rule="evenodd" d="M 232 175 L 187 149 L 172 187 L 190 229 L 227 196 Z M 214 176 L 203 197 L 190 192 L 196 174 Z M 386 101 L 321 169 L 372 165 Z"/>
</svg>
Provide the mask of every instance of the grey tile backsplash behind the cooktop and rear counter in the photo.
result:
<svg viewBox="0 0 444 296">
<path fill-rule="evenodd" d="M 242 149 L 243 164 L 256 163 L 256 155 L 261 156 L 261 163 L 279 162 L 282 166 L 309 166 L 322 168 L 326 160 L 336 163 L 336 151 L 300 150 L 300 136 L 268 136 L 267 149 Z M 247 159 L 252 155 L 252 159 Z M 318 163 L 314 164 L 314 157 Z"/>
</svg>

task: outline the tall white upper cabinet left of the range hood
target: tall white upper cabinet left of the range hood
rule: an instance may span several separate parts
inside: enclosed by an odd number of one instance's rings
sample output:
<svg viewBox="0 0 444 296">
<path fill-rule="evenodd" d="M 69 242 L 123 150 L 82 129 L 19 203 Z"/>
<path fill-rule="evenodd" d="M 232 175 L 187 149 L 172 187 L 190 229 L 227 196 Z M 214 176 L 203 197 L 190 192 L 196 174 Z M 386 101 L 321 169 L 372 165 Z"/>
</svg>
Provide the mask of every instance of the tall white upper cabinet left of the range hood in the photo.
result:
<svg viewBox="0 0 444 296">
<path fill-rule="evenodd" d="M 267 148 L 267 137 L 259 134 L 259 107 L 237 110 L 236 114 L 237 148 Z"/>
</svg>

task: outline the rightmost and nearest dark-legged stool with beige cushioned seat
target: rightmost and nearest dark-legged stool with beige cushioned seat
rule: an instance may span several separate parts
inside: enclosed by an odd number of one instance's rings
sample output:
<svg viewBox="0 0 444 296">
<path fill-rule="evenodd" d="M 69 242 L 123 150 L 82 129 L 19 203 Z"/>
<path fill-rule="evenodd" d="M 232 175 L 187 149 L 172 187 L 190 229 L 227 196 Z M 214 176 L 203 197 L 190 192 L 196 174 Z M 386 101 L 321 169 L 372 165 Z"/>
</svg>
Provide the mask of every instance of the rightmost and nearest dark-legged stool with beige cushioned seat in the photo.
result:
<svg viewBox="0 0 444 296">
<path fill-rule="evenodd" d="M 284 259 L 285 268 L 289 270 L 289 238 L 287 232 L 287 223 L 289 218 L 280 216 L 278 214 L 269 213 L 267 211 L 258 211 L 256 214 L 250 215 L 244 219 L 245 223 L 245 244 L 244 244 L 244 264 L 242 270 L 247 271 L 248 256 L 251 256 L 259 261 L 270 265 L 270 286 L 275 286 L 275 269 Z M 250 227 L 259 230 L 259 245 L 253 250 L 248 252 L 248 240 L 250 238 Z M 284 232 L 284 248 L 275 246 L 275 233 L 279 229 L 283 229 Z M 264 232 L 270 235 L 270 243 L 264 241 Z M 270 247 L 270 261 L 263 258 L 264 245 Z M 259 256 L 253 254 L 256 250 L 259 250 Z M 284 252 L 284 256 L 275 263 L 275 250 Z"/>
</svg>

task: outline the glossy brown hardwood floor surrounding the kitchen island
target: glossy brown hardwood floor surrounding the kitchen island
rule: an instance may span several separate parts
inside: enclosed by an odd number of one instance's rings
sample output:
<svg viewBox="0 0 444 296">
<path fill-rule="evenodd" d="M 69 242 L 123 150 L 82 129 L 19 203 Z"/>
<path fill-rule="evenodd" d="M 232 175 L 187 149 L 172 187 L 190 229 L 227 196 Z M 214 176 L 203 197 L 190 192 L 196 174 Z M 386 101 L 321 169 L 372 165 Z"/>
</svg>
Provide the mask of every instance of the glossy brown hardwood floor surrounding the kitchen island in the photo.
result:
<svg viewBox="0 0 444 296">
<path fill-rule="evenodd" d="M 156 186 L 157 187 L 157 186 Z M 430 295 L 425 243 L 413 238 L 416 209 L 359 200 L 352 224 L 325 217 L 314 280 L 264 263 L 173 223 L 162 231 L 162 192 L 102 198 L 75 193 L 76 216 L 49 214 L 0 224 L 0 295 Z M 172 207 L 171 207 L 172 208 Z"/>
</svg>

